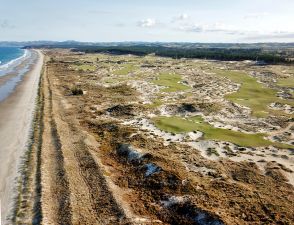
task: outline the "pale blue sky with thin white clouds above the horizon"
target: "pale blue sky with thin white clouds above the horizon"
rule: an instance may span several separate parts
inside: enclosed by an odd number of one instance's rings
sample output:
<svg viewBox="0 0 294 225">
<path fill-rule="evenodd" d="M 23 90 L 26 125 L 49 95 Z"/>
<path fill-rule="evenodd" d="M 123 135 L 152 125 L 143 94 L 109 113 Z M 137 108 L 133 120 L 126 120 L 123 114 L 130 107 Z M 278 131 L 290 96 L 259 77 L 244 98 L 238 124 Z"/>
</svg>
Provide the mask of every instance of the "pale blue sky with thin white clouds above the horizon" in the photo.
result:
<svg viewBox="0 0 294 225">
<path fill-rule="evenodd" d="M 294 42 L 294 0 L 0 0 L 0 41 Z"/>
</svg>

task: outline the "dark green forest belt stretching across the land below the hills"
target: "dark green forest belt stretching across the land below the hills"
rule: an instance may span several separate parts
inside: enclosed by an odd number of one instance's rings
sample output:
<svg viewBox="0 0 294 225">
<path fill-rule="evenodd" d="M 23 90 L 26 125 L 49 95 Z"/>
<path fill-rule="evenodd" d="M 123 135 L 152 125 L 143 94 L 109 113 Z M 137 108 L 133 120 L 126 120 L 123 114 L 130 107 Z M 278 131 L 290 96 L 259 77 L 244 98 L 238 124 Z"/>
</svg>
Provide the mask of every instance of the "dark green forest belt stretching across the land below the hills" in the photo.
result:
<svg viewBox="0 0 294 225">
<path fill-rule="evenodd" d="M 290 63 L 288 56 L 276 52 L 264 51 L 262 48 L 214 48 L 214 47 L 166 47 L 163 45 L 130 45 L 130 46 L 75 46 L 74 51 L 86 53 L 111 53 L 115 55 L 133 54 L 180 58 L 199 58 L 214 60 L 258 60 L 267 63 Z"/>
</svg>

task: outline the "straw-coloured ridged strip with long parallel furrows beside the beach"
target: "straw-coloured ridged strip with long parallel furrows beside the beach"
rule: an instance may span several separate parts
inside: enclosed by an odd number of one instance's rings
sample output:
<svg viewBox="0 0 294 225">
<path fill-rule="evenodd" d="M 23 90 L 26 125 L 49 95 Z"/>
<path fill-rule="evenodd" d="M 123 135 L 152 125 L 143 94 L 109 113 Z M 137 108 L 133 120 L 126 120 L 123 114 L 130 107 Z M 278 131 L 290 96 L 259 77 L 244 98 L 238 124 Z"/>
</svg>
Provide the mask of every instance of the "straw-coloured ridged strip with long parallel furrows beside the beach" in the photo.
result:
<svg viewBox="0 0 294 225">
<path fill-rule="evenodd" d="M 42 156 L 51 161 L 42 166 L 42 171 L 48 173 L 43 176 L 42 186 L 49 189 L 48 192 L 44 189 L 42 194 L 43 202 L 46 202 L 43 221 L 50 224 L 55 217 L 55 221 L 62 221 L 62 224 L 103 224 L 106 220 L 117 223 L 122 212 L 108 193 L 99 166 L 84 143 L 85 135 L 77 132 L 76 121 L 63 113 L 66 102 L 61 101 L 58 91 L 52 93 L 55 80 L 49 76 L 50 71 L 44 78 L 45 142 Z M 54 202 L 50 204 L 47 199 Z"/>
</svg>

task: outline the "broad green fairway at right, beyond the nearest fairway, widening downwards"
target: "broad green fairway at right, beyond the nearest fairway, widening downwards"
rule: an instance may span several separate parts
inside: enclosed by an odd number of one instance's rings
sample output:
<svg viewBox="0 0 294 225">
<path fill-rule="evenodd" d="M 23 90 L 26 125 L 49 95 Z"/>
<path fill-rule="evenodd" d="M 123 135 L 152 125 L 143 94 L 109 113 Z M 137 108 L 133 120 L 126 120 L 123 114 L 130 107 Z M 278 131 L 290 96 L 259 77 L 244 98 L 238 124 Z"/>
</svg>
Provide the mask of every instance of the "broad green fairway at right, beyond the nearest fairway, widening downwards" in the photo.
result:
<svg viewBox="0 0 294 225">
<path fill-rule="evenodd" d="M 273 111 L 268 106 L 273 102 L 293 105 L 289 100 L 277 97 L 277 91 L 264 87 L 257 79 L 249 76 L 245 72 L 215 70 L 217 76 L 227 77 L 235 83 L 241 84 L 239 91 L 228 94 L 225 97 L 235 103 L 249 107 L 252 115 L 256 117 L 266 117 Z M 274 113 L 274 112 L 273 112 Z"/>
</svg>

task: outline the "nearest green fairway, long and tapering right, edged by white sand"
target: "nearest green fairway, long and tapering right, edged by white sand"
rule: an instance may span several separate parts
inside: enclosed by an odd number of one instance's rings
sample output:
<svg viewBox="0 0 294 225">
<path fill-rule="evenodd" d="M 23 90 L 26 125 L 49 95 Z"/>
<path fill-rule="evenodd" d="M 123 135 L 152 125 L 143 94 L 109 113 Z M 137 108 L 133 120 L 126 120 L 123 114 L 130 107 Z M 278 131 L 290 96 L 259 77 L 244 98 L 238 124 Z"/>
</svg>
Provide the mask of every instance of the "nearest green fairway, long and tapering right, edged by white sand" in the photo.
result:
<svg viewBox="0 0 294 225">
<path fill-rule="evenodd" d="M 228 141 L 244 147 L 258 147 L 273 145 L 278 148 L 290 148 L 291 146 L 265 140 L 265 134 L 246 134 L 222 128 L 215 128 L 204 122 L 201 116 L 188 119 L 180 117 L 157 117 L 153 119 L 155 126 L 159 129 L 172 133 L 185 133 L 198 130 L 204 133 L 208 140 Z M 293 147 L 293 146 L 292 146 Z"/>
</svg>

